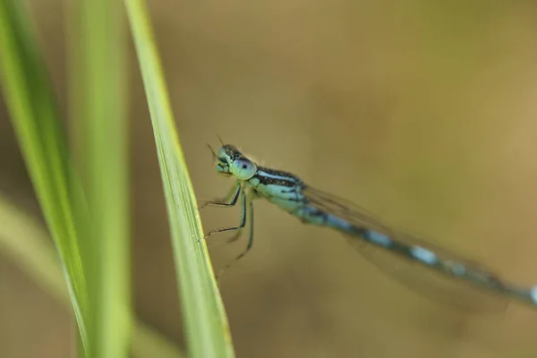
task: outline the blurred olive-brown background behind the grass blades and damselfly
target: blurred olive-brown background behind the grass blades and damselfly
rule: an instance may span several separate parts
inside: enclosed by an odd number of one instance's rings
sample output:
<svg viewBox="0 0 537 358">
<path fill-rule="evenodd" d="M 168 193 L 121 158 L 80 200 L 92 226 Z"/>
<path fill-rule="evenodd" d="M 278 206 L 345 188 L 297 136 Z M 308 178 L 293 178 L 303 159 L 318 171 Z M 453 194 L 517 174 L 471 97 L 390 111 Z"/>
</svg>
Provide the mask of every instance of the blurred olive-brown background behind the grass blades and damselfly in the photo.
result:
<svg viewBox="0 0 537 358">
<path fill-rule="evenodd" d="M 64 3 L 30 5 L 65 109 Z M 537 284 L 533 2 L 149 6 L 200 203 L 233 185 L 206 146 L 220 135 L 500 277 Z M 149 112 L 132 46 L 129 54 L 134 303 L 182 345 Z M 0 192 L 39 219 L 3 102 Z M 234 225 L 239 211 L 201 215 L 209 230 Z M 430 300 L 427 287 L 401 285 L 340 234 L 268 202 L 256 202 L 255 226 L 251 253 L 219 283 L 238 357 L 537 355 L 536 310 L 474 314 Z M 211 237 L 215 268 L 243 245 Z M 70 357 L 73 329 L 72 311 L 0 251 L 0 356 Z"/>
</svg>

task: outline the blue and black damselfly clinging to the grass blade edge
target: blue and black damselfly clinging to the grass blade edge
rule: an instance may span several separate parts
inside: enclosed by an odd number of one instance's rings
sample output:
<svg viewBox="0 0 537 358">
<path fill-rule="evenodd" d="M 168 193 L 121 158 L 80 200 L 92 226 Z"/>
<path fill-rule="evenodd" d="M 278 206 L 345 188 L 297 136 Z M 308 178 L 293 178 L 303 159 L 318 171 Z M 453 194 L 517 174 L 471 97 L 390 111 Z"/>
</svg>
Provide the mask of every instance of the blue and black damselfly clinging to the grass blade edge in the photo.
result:
<svg viewBox="0 0 537 358">
<path fill-rule="evenodd" d="M 217 153 L 213 149 L 211 151 L 217 161 L 217 172 L 234 176 L 236 183 L 226 197 L 209 201 L 205 205 L 233 207 L 240 197 L 241 219 L 239 226 L 211 230 L 205 237 L 235 231 L 231 239 L 234 241 L 249 224 L 248 243 L 245 249 L 221 270 L 218 276 L 250 251 L 253 243 L 253 200 L 264 198 L 298 217 L 303 223 L 328 226 L 345 234 L 349 243 L 379 267 L 382 265 L 368 253 L 368 250 L 383 251 L 392 259 L 404 259 L 444 278 L 450 277 L 465 282 L 482 292 L 488 291 L 501 297 L 514 298 L 537 307 L 537 286 L 526 288 L 502 280 L 488 269 L 448 251 L 435 248 L 415 235 L 402 233 L 383 224 L 347 200 L 312 188 L 296 175 L 258 166 L 233 145 L 223 144 Z"/>
</svg>

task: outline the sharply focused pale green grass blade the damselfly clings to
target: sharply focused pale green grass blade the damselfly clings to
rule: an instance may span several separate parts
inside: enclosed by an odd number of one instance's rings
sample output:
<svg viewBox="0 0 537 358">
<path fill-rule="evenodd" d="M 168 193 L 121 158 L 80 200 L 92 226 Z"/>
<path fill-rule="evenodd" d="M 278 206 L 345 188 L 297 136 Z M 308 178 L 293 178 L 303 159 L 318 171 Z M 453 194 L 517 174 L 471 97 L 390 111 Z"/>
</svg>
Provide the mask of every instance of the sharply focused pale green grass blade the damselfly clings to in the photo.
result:
<svg viewBox="0 0 537 358">
<path fill-rule="evenodd" d="M 124 0 L 141 66 L 174 246 L 184 327 L 192 357 L 232 357 L 226 314 L 210 266 L 192 183 L 175 131 L 166 81 L 143 0 Z"/>
</svg>

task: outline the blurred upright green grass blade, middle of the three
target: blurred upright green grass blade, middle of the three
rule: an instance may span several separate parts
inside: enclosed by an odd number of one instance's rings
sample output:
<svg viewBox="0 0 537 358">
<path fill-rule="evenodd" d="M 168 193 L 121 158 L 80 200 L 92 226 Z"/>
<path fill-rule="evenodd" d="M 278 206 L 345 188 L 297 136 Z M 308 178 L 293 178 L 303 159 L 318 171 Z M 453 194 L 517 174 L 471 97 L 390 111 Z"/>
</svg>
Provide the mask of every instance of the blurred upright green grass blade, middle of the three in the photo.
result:
<svg viewBox="0 0 537 358">
<path fill-rule="evenodd" d="M 129 354 L 132 326 L 123 6 L 110 0 L 68 5 L 73 148 L 91 217 L 81 230 L 93 263 L 86 271 L 89 352 L 121 358 Z"/>
</svg>

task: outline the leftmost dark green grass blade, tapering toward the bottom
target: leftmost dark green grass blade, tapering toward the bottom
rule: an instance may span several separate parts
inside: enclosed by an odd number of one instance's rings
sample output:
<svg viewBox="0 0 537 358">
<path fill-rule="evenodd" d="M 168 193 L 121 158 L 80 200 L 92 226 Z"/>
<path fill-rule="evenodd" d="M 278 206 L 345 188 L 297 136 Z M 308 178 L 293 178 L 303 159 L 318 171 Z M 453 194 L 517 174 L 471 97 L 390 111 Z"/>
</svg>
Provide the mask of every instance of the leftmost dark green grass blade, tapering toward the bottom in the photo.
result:
<svg viewBox="0 0 537 358">
<path fill-rule="evenodd" d="M 35 31 L 19 1 L 0 2 L 0 73 L 5 102 L 39 204 L 64 266 L 87 345 L 88 291 L 73 216 L 72 166 Z"/>
</svg>

